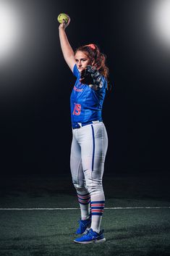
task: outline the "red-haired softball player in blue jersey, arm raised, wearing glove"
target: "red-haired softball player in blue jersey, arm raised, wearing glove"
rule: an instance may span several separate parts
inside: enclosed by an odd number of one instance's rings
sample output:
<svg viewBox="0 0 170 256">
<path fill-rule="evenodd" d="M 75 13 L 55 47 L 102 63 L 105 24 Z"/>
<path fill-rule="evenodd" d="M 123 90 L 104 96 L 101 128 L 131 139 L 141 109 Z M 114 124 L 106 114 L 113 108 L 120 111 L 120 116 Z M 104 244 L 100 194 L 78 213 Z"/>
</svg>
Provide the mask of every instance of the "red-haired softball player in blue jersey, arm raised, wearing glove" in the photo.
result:
<svg viewBox="0 0 170 256">
<path fill-rule="evenodd" d="M 95 44 L 80 46 L 75 52 L 72 50 L 65 33 L 69 22 L 70 18 L 59 25 L 59 39 L 64 59 L 77 78 L 70 98 L 70 167 L 81 211 L 76 234 L 82 236 L 74 241 L 99 243 L 106 241 L 101 231 L 101 218 L 105 204 L 102 177 L 108 136 L 101 114 L 109 69 L 105 55 Z"/>
</svg>

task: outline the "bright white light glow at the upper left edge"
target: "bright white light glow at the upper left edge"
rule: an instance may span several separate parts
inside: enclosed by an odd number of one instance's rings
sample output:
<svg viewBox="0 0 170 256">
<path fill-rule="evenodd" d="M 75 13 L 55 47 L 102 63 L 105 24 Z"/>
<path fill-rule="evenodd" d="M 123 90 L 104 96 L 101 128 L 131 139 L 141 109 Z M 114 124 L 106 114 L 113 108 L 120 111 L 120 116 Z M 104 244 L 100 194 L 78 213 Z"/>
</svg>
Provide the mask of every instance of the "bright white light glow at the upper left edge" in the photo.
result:
<svg viewBox="0 0 170 256">
<path fill-rule="evenodd" d="M 17 9 L 5 1 L 0 2 L 0 64 L 12 57 L 21 36 L 21 21 Z"/>
</svg>

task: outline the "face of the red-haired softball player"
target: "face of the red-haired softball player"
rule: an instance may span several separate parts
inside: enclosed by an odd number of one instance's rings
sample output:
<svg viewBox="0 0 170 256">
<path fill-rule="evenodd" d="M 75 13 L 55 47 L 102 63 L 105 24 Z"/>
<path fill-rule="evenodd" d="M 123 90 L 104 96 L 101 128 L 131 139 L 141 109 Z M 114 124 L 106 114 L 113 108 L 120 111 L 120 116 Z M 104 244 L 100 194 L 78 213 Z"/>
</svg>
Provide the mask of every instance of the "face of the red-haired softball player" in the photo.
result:
<svg viewBox="0 0 170 256">
<path fill-rule="evenodd" d="M 75 61 L 79 72 L 81 72 L 86 66 L 92 65 L 90 58 L 85 51 L 77 51 L 75 54 Z"/>
</svg>

